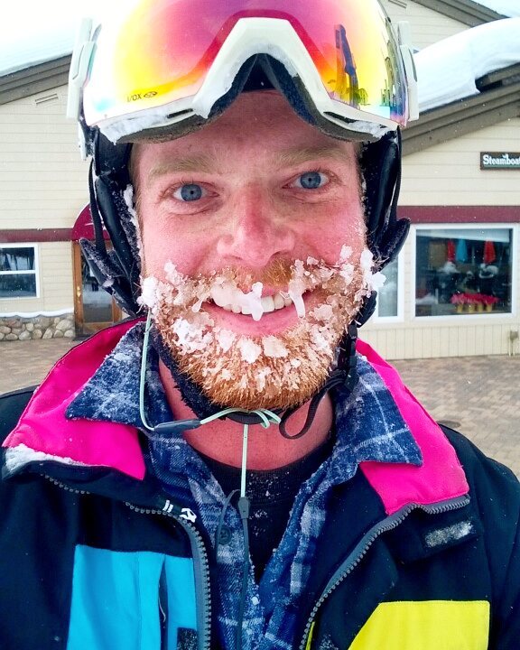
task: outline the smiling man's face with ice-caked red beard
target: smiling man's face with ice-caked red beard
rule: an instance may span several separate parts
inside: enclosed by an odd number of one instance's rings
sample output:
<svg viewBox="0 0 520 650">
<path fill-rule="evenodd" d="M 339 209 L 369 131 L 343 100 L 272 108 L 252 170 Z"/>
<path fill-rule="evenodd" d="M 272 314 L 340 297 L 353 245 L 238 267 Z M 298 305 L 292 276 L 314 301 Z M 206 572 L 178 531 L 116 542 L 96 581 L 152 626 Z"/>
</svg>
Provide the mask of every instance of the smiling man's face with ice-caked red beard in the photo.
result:
<svg viewBox="0 0 520 650">
<path fill-rule="evenodd" d="M 181 369 L 218 404 L 304 402 L 367 283 L 355 144 L 268 91 L 134 155 L 144 301 Z"/>
</svg>

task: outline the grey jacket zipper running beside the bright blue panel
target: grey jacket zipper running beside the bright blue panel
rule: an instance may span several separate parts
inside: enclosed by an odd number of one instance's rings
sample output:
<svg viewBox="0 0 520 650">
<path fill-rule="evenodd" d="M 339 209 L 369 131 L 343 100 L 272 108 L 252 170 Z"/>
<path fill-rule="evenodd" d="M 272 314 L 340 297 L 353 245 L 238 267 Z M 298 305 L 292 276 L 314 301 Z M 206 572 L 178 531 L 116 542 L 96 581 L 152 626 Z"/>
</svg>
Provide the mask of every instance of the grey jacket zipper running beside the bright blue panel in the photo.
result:
<svg viewBox="0 0 520 650">
<path fill-rule="evenodd" d="M 42 474 L 43 478 L 51 481 L 54 485 L 61 487 L 66 492 L 71 492 L 78 495 L 88 495 L 90 494 L 88 490 L 79 490 L 75 487 L 70 487 L 65 483 L 52 478 L 48 474 Z M 178 506 L 175 509 L 179 510 L 179 515 L 172 512 L 172 502 L 167 501 L 165 509 L 158 510 L 157 508 L 144 508 L 140 506 L 135 506 L 134 504 L 125 501 L 125 506 L 129 507 L 131 510 L 141 514 L 141 515 L 163 515 L 171 517 L 176 521 L 188 534 L 191 545 L 191 552 L 193 554 L 193 567 L 195 573 L 195 595 L 197 599 L 197 617 L 198 617 L 198 627 L 199 627 L 199 640 L 198 640 L 198 650 L 210 650 L 209 641 L 211 634 L 211 599 L 210 599 L 210 585 L 209 585 L 209 560 L 208 552 L 206 551 L 206 546 L 202 539 L 202 535 L 197 530 L 197 528 L 190 523 L 184 515 L 182 515 L 182 509 Z M 169 507 L 166 507 L 169 506 Z"/>
</svg>

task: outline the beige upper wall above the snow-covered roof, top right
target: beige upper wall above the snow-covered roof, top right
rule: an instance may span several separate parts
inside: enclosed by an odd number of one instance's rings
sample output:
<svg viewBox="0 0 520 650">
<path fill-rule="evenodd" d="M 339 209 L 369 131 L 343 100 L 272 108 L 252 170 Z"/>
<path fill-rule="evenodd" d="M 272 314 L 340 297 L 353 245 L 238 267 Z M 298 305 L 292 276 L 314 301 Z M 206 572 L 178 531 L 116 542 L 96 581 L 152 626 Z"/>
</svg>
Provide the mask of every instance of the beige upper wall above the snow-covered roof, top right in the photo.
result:
<svg viewBox="0 0 520 650">
<path fill-rule="evenodd" d="M 438 14 L 432 9 L 413 2 L 382 0 L 386 13 L 393 23 L 408 21 L 412 29 L 412 45 L 415 50 L 432 45 L 453 34 L 469 29 L 468 25 Z"/>
</svg>

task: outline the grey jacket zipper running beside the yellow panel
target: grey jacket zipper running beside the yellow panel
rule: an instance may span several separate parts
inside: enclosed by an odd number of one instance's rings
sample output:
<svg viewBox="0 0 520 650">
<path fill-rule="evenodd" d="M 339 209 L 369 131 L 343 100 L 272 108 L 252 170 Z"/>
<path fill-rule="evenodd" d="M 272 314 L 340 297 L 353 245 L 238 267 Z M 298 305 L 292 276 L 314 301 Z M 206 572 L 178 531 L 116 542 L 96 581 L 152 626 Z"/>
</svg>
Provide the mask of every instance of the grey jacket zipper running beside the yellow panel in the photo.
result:
<svg viewBox="0 0 520 650">
<path fill-rule="evenodd" d="M 302 643 L 299 646 L 299 650 L 306 650 L 310 648 L 309 643 L 309 634 L 311 631 L 312 624 L 316 618 L 316 614 L 320 609 L 321 605 L 325 602 L 326 599 L 330 597 L 330 594 L 339 587 L 339 584 L 348 574 L 351 573 L 363 557 L 367 554 L 368 549 L 376 541 L 377 537 L 381 534 L 387 533 L 388 531 L 393 530 L 398 525 L 402 524 L 404 519 L 410 515 L 410 513 L 416 508 L 422 509 L 424 512 L 429 515 L 440 515 L 441 513 L 448 512 L 450 510 L 458 510 L 461 507 L 467 506 L 469 503 L 469 497 L 456 497 L 445 501 L 441 506 L 420 506 L 418 504 L 412 504 L 410 506 L 404 506 L 401 510 L 398 510 L 394 515 L 389 515 L 373 526 L 367 534 L 365 534 L 362 539 L 357 543 L 355 549 L 348 555 L 348 558 L 342 562 L 339 569 L 334 571 L 332 574 L 327 586 L 322 591 L 320 598 L 314 604 L 311 614 L 305 626 L 302 636 Z"/>
</svg>

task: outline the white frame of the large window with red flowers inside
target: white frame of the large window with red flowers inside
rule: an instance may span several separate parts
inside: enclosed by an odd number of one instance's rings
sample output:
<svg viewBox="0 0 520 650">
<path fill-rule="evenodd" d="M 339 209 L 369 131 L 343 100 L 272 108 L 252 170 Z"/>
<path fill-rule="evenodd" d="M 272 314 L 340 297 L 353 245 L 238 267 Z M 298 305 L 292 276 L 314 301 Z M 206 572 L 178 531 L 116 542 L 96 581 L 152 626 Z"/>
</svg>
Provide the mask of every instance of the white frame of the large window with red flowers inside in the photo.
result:
<svg viewBox="0 0 520 650">
<path fill-rule="evenodd" d="M 418 230 L 510 230 L 511 231 L 511 311 L 480 311 L 475 313 L 452 314 L 444 316 L 417 316 L 416 313 L 416 290 L 417 290 L 417 231 Z M 516 294 L 518 286 L 517 277 L 517 246 L 518 246 L 518 226 L 513 223 L 498 222 L 498 223 L 450 223 L 443 221 L 439 224 L 413 224 L 410 229 L 410 237 L 413 238 L 412 244 L 412 278 L 410 283 L 410 304 L 412 307 L 411 319 L 413 322 L 421 323 L 463 323 L 466 321 L 482 320 L 483 318 L 497 320 L 508 319 L 512 320 L 516 316 Z"/>
</svg>

